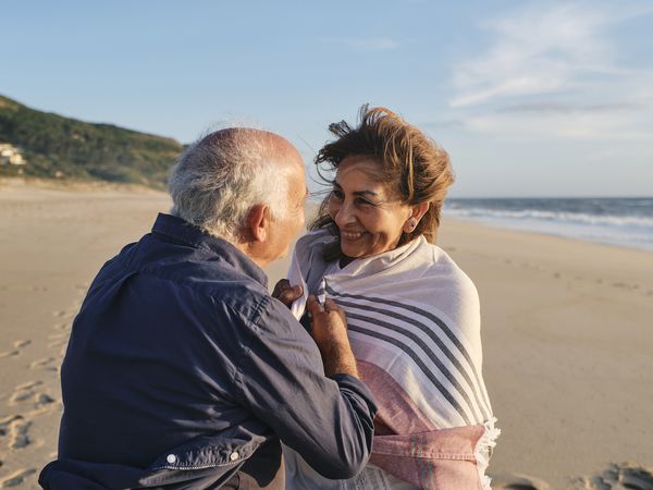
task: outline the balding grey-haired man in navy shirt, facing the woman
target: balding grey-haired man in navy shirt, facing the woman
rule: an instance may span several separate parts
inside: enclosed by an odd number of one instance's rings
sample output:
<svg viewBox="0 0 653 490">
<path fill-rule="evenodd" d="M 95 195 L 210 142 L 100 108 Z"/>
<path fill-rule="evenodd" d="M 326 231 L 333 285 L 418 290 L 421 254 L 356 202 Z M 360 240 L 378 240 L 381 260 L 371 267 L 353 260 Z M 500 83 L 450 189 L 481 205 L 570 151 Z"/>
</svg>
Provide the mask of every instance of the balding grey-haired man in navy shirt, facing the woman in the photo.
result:
<svg viewBox="0 0 653 490">
<path fill-rule="evenodd" d="M 102 267 L 75 318 L 59 458 L 40 485 L 281 489 L 280 439 L 352 477 L 375 406 L 344 315 L 311 297 L 311 339 L 260 269 L 304 225 L 299 154 L 272 133 L 219 131 L 180 157 L 169 188 L 172 216 Z"/>
</svg>

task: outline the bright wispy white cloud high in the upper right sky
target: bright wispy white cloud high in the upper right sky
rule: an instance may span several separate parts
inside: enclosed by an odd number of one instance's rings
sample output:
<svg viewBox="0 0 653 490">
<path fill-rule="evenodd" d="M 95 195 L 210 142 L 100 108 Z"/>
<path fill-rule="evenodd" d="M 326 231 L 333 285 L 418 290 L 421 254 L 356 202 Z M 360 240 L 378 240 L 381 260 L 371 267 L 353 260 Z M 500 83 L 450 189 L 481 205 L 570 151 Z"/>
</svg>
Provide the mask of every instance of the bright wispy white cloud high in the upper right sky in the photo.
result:
<svg viewBox="0 0 653 490">
<path fill-rule="evenodd" d="M 529 9 L 485 23 L 496 37 L 490 49 L 459 65 L 452 106 L 497 97 L 551 94 L 583 74 L 614 73 L 614 49 L 602 32 L 608 11 L 580 5 Z"/>
</svg>

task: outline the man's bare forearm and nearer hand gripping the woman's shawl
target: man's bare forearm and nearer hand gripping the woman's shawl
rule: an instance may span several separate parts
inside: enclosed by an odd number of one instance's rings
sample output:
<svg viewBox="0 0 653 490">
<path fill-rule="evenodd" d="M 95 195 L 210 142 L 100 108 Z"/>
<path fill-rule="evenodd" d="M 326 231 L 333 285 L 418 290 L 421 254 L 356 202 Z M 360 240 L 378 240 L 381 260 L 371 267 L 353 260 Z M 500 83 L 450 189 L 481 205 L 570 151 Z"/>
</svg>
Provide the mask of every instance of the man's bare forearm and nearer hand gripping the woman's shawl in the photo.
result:
<svg viewBox="0 0 653 490">
<path fill-rule="evenodd" d="M 322 354 L 324 373 L 359 378 L 347 336 L 345 313 L 332 299 L 326 299 L 321 305 L 312 294 L 308 296 L 307 307 L 312 318 L 311 334 Z"/>
</svg>

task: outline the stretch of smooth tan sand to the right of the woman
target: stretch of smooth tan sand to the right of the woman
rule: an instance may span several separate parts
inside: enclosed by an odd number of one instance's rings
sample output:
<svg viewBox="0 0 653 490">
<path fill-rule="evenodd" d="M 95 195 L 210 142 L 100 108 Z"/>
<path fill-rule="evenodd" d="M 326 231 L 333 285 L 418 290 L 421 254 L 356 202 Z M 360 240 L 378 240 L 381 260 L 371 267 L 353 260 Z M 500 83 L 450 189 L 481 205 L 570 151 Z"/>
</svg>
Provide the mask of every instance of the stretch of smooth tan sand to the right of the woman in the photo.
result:
<svg viewBox="0 0 653 490">
<path fill-rule="evenodd" d="M 440 243 L 481 298 L 493 488 L 653 489 L 653 254 L 446 220 Z"/>
</svg>

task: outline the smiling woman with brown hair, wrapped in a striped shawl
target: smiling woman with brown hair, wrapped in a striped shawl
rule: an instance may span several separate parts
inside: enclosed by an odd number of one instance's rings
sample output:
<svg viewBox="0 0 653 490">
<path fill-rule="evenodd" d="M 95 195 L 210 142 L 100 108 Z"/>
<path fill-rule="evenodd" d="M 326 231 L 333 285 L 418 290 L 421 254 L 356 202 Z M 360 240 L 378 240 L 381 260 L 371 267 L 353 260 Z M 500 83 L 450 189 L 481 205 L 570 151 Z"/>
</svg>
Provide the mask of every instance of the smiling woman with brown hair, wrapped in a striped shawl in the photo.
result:
<svg viewBox="0 0 653 490">
<path fill-rule="evenodd" d="M 476 287 L 434 245 L 453 172 L 447 154 L 384 108 L 332 124 L 316 163 L 335 170 L 289 282 L 345 310 L 379 413 L 370 464 L 330 481 L 285 452 L 289 489 L 481 489 L 498 430 L 481 375 Z M 316 468 L 318 471 L 320 468 Z"/>
</svg>

